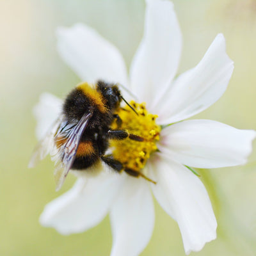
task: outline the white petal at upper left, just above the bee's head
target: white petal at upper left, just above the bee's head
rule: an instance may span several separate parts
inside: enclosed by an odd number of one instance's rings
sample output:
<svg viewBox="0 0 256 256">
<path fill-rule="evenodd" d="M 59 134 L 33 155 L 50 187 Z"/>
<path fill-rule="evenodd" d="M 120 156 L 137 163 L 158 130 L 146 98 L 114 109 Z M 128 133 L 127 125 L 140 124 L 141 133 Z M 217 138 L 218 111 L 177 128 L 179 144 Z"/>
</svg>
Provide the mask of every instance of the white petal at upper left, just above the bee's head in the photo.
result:
<svg viewBox="0 0 256 256">
<path fill-rule="evenodd" d="M 83 24 L 59 28 L 58 51 L 65 63 L 88 83 L 102 79 L 127 85 L 127 70 L 116 47 Z"/>
</svg>

